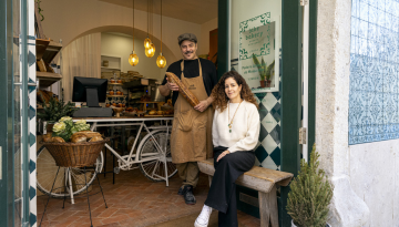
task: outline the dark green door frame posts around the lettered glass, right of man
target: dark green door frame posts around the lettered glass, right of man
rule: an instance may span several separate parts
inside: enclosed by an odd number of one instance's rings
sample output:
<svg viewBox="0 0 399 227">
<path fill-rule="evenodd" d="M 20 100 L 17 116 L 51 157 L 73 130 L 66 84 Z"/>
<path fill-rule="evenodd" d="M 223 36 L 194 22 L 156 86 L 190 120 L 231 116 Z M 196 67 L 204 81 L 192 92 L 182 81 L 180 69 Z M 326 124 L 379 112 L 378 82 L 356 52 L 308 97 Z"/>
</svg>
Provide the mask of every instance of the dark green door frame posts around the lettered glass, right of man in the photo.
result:
<svg viewBox="0 0 399 227">
<path fill-rule="evenodd" d="M 221 78 L 228 69 L 229 43 L 229 0 L 218 0 L 218 51 L 217 75 Z M 301 37 L 303 8 L 300 0 L 282 0 L 282 166 L 284 172 L 298 174 L 300 168 L 299 127 L 301 126 Z M 308 143 L 309 152 L 315 142 L 316 118 L 316 35 L 317 0 L 309 1 L 309 99 L 308 99 Z M 283 92 L 284 91 L 284 92 Z M 288 187 L 282 187 L 279 223 L 290 226 L 290 217 L 285 207 Z"/>
</svg>

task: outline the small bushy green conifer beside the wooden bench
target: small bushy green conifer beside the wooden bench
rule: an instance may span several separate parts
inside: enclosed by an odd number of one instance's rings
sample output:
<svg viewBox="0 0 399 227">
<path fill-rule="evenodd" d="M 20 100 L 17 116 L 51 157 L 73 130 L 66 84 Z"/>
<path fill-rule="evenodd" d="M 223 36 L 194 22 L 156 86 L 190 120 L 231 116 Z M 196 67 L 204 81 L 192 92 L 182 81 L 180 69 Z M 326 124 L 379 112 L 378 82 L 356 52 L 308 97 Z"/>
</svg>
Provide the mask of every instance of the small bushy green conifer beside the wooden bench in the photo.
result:
<svg viewBox="0 0 399 227">
<path fill-rule="evenodd" d="M 293 218 L 291 226 L 326 227 L 332 186 L 323 169 L 319 169 L 319 154 L 313 146 L 310 162 L 300 161 L 300 172 L 290 184 L 287 211 Z"/>
</svg>

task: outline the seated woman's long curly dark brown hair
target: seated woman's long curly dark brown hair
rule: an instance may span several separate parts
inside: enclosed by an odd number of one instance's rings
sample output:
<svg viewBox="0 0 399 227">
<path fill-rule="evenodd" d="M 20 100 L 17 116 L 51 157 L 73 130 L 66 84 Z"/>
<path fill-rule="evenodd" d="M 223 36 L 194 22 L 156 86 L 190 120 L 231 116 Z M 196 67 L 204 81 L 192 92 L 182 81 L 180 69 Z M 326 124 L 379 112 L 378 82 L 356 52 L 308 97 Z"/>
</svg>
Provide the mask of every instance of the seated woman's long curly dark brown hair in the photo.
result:
<svg viewBox="0 0 399 227">
<path fill-rule="evenodd" d="M 218 109 L 221 112 L 223 112 L 227 107 L 228 97 L 225 92 L 225 81 L 229 78 L 233 78 L 238 85 L 242 85 L 242 91 L 239 93 L 241 97 L 249 103 L 253 103 L 254 105 L 256 105 L 257 109 L 259 109 L 254 93 L 252 93 L 245 79 L 236 71 L 228 71 L 223 74 L 216 86 L 212 90 L 211 95 L 215 99 L 212 104 L 214 109 Z"/>
</svg>

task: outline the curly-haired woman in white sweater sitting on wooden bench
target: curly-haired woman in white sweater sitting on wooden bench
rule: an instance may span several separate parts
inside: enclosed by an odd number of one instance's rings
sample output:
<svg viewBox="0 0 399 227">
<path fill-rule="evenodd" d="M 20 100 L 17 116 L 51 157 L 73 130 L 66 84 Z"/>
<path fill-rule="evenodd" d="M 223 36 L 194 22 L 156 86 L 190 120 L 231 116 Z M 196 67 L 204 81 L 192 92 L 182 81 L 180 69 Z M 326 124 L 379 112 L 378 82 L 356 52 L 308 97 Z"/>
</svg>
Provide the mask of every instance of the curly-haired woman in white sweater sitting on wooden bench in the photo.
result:
<svg viewBox="0 0 399 227">
<path fill-rule="evenodd" d="M 260 126 L 258 105 L 244 78 L 235 71 L 222 76 L 212 95 L 215 174 L 194 226 L 206 227 L 214 208 L 219 211 L 219 227 L 235 227 L 238 226 L 235 180 L 255 163 Z"/>
</svg>

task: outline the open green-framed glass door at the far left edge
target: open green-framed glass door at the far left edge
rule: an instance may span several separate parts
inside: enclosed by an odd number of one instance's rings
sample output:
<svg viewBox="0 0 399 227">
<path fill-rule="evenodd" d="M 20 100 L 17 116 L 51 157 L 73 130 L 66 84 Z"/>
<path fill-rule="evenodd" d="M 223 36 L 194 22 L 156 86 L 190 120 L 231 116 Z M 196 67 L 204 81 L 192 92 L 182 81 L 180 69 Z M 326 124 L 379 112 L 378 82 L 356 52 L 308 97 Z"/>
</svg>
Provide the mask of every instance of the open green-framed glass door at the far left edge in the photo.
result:
<svg viewBox="0 0 399 227">
<path fill-rule="evenodd" d="M 27 1 L 1 1 L 0 14 L 0 226 L 28 226 Z"/>
</svg>

